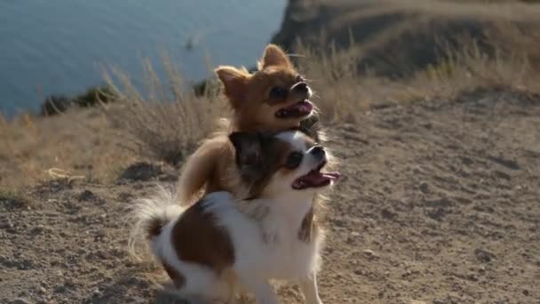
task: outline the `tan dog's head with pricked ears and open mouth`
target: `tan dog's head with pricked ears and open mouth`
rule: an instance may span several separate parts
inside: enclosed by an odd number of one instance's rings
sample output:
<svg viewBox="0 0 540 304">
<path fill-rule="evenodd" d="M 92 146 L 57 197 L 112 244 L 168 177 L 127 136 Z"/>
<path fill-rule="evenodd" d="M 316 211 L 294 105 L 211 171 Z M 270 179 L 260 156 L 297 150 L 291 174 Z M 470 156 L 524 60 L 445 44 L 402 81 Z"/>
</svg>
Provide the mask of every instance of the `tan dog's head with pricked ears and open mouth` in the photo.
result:
<svg viewBox="0 0 540 304">
<path fill-rule="evenodd" d="M 258 71 L 222 66 L 215 70 L 242 131 L 280 131 L 297 127 L 311 116 L 314 105 L 306 79 L 298 74 L 289 57 L 269 44 Z"/>
</svg>

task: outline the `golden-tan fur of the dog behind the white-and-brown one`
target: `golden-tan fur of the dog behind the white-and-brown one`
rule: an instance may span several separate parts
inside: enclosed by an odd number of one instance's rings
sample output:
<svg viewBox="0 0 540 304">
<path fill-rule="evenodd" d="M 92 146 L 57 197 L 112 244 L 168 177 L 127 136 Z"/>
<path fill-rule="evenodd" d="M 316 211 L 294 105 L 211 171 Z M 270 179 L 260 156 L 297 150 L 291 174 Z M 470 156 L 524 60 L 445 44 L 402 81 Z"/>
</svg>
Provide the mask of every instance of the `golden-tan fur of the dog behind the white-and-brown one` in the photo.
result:
<svg viewBox="0 0 540 304">
<path fill-rule="evenodd" d="M 235 194 L 242 192 L 242 188 L 236 188 L 237 183 L 228 182 L 234 168 L 227 168 L 233 165 L 232 152 L 226 142 L 227 132 L 285 131 L 297 128 L 302 120 L 310 116 L 276 117 L 278 110 L 312 96 L 309 87 L 306 92 L 294 90 L 294 86 L 303 82 L 303 79 L 285 52 L 274 44 L 268 45 L 258 68 L 253 74 L 245 68 L 216 68 L 233 115 L 226 131 L 204 140 L 195 153 L 187 158 L 179 177 L 177 200 L 180 204 L 194 203 L 205 186 L 206 193 L 214 190 L 226 190 Z M 271 97 L 270 91 L 275 86 L 287 90 L 285 98 L 276 100 Z"/>
</svg>

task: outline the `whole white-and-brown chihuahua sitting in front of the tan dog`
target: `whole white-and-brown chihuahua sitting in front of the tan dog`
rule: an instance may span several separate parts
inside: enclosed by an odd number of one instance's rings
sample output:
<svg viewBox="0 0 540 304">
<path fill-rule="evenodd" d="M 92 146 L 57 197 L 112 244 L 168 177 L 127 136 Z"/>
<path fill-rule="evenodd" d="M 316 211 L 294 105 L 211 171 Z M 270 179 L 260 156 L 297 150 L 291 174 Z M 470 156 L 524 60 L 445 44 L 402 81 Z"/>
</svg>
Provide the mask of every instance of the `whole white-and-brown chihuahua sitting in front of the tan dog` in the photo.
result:
<svg viewBox="0 0 540 304">
<path fill-rule="evenodd" d="M 322 172 L 330 156 L 299 131 L 233 132 L 229 140 L 242 196 L 213 192 L 187 209 L 168 193 L 141 200 L 131 243 L 146 238 L 187 299 L 229 301 L 250 292 L 258 303 L 274 304 L 269 280 L 287 280 L 300 285 L 306 303 L 322 303 L 316 277 L 323 233 L 314 197 L 338 180 L 338 172 Z"/>
</svg>

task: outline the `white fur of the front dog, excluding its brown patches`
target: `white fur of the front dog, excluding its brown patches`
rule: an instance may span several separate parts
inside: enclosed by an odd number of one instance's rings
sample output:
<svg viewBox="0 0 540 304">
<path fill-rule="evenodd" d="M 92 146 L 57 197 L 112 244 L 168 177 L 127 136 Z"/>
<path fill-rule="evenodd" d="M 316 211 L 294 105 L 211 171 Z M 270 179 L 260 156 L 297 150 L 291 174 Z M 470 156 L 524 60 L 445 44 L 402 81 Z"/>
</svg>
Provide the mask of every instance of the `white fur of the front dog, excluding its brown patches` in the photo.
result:
<svg viewBox="0 0 540 304">
<path fill-rule="evenodd" d="M 308 217 L 316 216 L 312 214 L 314 197 L 323 188 L 295 190 L 291 185 L 298 177 L 316 169 L 323 159 L 312 155 L 314 142 L 302 132 L 281 132 L 274 140 L 278 142 L 271 148 L 280 148 L 281 152 L 273 151 L 272 155 L 288 155 L 291 151 L 303 154 L 303 160 L 296 169 L 283 168 L 282 157 L 269 157 L 264 161 L 272 164 L 263 166 L 265 170 L 261 172 L 270 176 L 256 179 L 265 185 L 257 198 L 238 200 L 230 193 L 221 191 L 204 196 L 190 207 L 198 206 L 204 212 L 209 212 L 234 247 L 234 260 L 220 276 L 205 265 L 179 259 L 171 231 L 183 219 L 183 214 L 188 212 L 179 207 L 171 209 L 169 206 L 176 204 L 171 196 L 156 196 L 155 199 L 141 201 L 135 207 L 133 214 L 136 225 L 132 237 L 139 234 L 144 238 L 150 234 L 145 231 L 152 226 L 149 223 L 163 222 L 161 232 L 150 236 L 150 246 L 158 260 L 186 278 L 177 290 L 182 297 L 230 300 L 237 292 L 251 292 L 258 303 L 278 303 L 268 282 L 287 280 L 300 284 L 306 303 L 322 303 L 317 291 L 316 274 L 321 264 L 319 252 L 323 233 L 317 228 L 317 231 L 312 231 L 314 237 L 306 240 L 299 237 L 299 232 Z M 176 212 L 176 219 L 171 219 L 171 211 Z M 314 229 L 315 226 L 312 224 L 308 228 Z M 198 232 L 196 228 L 185 231 L 193 234 Z"/>
</svg>

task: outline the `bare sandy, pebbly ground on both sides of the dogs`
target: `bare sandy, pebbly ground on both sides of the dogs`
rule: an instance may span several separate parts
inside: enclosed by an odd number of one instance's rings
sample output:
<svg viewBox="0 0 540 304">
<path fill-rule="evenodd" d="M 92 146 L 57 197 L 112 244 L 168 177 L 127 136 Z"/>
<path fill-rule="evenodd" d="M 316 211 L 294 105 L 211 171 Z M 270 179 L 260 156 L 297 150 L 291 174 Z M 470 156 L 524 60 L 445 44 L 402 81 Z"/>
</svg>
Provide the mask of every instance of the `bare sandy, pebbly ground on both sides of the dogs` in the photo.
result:
<svg viewBox="0 0 540 304">
<path fill-rule="evenodd" d="M 325 303 L 540 303 L 540 97 L 380 107 L 330 134 L 345 178 L 322 252 Z M 155 180 L 174 179 L 150 173 L 0 199 L 0 302 L 166 302 L 122 220 Z M 301 302 L 297 287 L 279 292 Z"/>
</svg>

